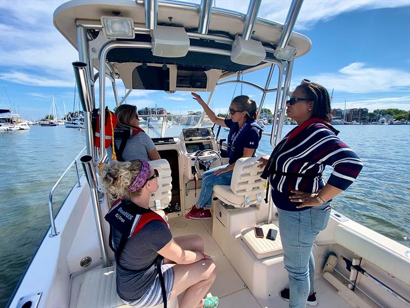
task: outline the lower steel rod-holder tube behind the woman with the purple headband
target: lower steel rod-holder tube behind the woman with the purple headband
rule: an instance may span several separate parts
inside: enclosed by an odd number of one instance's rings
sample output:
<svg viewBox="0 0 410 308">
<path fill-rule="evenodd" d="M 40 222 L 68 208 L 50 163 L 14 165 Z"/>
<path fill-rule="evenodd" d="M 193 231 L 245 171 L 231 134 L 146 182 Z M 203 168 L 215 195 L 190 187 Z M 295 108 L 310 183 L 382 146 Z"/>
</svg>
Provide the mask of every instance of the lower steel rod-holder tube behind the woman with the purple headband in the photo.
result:
<svg viewBox="0 0 410 308">
<path fill-rule="evenodd" d="M 103 216 L 101 215 L 101 209 L 98 202 L 97 174 L 95 172 L 93 158 L 91 155 L 84 155 L 80 158 L 80 161 L 83 165 L 88 185 L 90 186 L 91 202 L 94 210 L 95 225 L 97 227 L 97 237 L 101 258 L 103 259 L 103 267 L 108 267 L 110 265 L 110 260 L 108 259 L 107 245 L 104 236 Z"/>
</svg>

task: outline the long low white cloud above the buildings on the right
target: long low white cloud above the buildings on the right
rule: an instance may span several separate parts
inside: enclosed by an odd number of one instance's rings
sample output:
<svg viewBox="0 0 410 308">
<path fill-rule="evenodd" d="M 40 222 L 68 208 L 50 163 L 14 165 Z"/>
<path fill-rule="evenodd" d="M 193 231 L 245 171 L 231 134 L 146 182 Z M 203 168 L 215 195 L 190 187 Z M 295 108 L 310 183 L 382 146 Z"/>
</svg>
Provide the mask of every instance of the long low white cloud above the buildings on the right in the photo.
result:
<svg viewBox="0 0 410 308">
<path fill-rule="evenodd" d="M 354 62 L 336 73 L 321 73 L 308 76 L 308 79 L 337 92 L 377 93 L 410 90 L 410 73 L 391 68 L 366 67 L 364 63 Z M 301 78 L 294 78 L 294 89 Z"/>
</svg>

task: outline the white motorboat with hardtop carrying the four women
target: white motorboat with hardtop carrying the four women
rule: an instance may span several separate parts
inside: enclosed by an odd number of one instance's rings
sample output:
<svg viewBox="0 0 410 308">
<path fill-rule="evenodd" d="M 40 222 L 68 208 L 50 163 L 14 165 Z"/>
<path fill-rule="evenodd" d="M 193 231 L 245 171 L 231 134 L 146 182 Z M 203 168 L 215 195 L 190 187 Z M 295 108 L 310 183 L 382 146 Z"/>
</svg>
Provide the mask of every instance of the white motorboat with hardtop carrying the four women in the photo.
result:
<svg viewBox="0 0 410 308">
<path fill-rule="evenodd" d="M 285 24 L 258 18 L 258 4 L 251 1 L 246 15 L 212 7 L 207 1 L 76 0 L 59 6 L 54 12 L 54 26 L 84 61 L 74 62 L 73 68 L 85 119 L 91 119 L 94 107 L 99 109 L 100 119 L 105 119 L 107 81 L 119 105 L 113 76 L 121 79 L 129 92 L 147 88 L 209 91 L 210 98 L 219 86 L 247 83 L 262 91 L 259 109 L 266 93 L 276 93 L 270 100 L 274 103 L 272 130 L 265 132 L 270 136 L 262 137 L 270 138 L 275 146 L 280 141 L 295 58 L 309 52 L 312 44 L 308 37 L 293 31 L 302 1 L 291 3 Z M 110 25 L 117 31 L 111 32 Z M 242 29 L 242 35 L 236 35 Z M 162 37 L 167 40 L 159 40 Z M 253 40 L 256 37 L 258 41 Z M 249 41 L 252 52 L 240 49 L 241 40 Z M 158 46 L 158 42 L 163 45 Z M 95 70 L 107 77 L 99 78 L 98 86 L 94 84 Z M 262 85 L 254 84 L 251 78 L 256 70 L 267 72 Z M 147 80 L 153 74 L 155 82 Z M 271 84 L 273 88 L 264 86 Z M 258 177 L 261 169 L 256 166 L 257 158 L 239 160 L 234 168 L 238 181 L 214 189 L 212 220 L 185 220 L 183 216 L 198 198 L 195 179 L 203 172 L 198 164 L 227 162 L 219 153 L 220 146 L 226 144 L 212 127 L 202 127 L 204 114 L 189 123 L 185 115 L 174 117 L 186 126 L 177 134 L 169 136 L 166 121 L 162 121 L 161 129 L 150 130 L 157 134 L 153 141 L 162 158 L 151 162 L 159 172 L 159 189 L 151 196 L 150 205 L 167 219 L 174 236 L 196 234 L 204 239 L 205 253 L 211 255 L 217 268 L 209 292 L 219 296 L 221 306 L 287 306 L 278 296 L 288 283 L 280 232 L 275 241 L 254 236 L 256 225 L 265 234 L 270 228 L 278 230 L 276 207 L 270 199 L 263 199 L 267 183 Z M 90 122 L 85 123 L 87 146 L 73 153 L 73 162 L 50 191 L 50 228 L 16 286 L 10 307 L 124 305 L 116 294 L 115 260 L 108 248 L 109 229 L 103 219 L 109 204 L 97 188 L 96 166 L 106 159 L 105 138 L 100 138 L 97 151 Z M 104 121 L 99 123 L 99 133 L 105 136 Z M 197 153 L 210 149 L 217 156 L 209 157 L 209 161 L 204 161 L 208 154 Z M 74 168 L 79 162 L 85 175 Z M 54 215 L 54 190 L 72 167 L 78 183 Z M 177 203 L 180 210 L 168 215 L 161 211 Z M 22 232 L 26 230 L 22 228 Z M 312 253 L 321 307 L 409 306 L 410 252 L 406 246 L 332 209 L 329 224 L 318 235 Z M 177 307 L 177 301 L 169 300 L 168 307 Z"/>
</svg>

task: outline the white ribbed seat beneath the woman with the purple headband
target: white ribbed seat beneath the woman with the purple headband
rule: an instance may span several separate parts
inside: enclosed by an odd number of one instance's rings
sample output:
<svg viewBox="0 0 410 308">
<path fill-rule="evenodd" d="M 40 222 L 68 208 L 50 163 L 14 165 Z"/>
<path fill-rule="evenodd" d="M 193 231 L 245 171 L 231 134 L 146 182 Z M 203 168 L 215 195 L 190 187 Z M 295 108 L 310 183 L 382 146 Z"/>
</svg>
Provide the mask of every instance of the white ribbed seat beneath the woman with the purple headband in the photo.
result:
<svg viewBox="0 0 410 308">
<path fill-rule="evenodd" d="M 75 307 L 77 308 L 113 308 L 132 307 L 121 301 L 117 295 L 115 266 L 95 269 L 88 272 L 81 282 Z M 163 304 L 153 308 L 163 307 Z M 168 307 L 178 308 L 178 298 L 168 301 Z"/>
</svg>

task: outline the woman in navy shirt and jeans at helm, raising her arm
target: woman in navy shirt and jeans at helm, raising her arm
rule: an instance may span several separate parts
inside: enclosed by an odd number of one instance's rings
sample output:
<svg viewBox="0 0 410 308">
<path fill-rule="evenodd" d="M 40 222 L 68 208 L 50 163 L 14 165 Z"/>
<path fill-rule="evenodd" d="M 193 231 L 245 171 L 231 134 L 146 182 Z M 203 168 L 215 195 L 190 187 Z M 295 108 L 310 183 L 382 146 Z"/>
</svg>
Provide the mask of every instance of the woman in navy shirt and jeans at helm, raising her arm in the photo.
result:
<svg viewBox="0 0 410 308">
<path fill-rule="evenodd" d="M 253 157 L 262 137 L 262 128 L 256 123 L 258 111 L 255 101 L 247 95 L 234 98 L 229 107 L 230 118 L 217 117 L 201 97 L 192 93 L 215 124 L 229 127 L 228 157 L 229 164 L 204 172 L 202 175 L 202 189 L 197 203 L 185 215 L 188 219 L 211 219 L 210 212 L 212 190 L 214 185 L 230 185 L 235 162 L 242 157 Z"/>
</svg>

